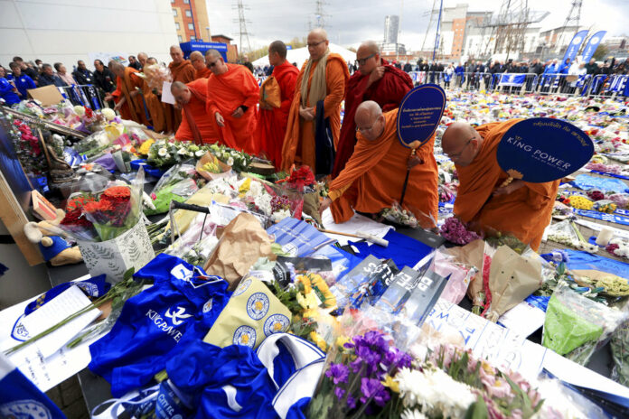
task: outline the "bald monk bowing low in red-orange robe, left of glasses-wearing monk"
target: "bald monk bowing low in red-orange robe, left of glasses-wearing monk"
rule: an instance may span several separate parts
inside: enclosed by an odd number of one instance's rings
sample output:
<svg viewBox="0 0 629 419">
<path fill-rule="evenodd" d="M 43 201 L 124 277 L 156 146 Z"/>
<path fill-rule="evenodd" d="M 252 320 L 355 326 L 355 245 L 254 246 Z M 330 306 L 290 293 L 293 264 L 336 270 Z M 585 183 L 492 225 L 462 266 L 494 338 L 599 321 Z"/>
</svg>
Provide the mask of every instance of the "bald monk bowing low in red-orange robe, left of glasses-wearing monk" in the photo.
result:
<svg viewBox="0 0 629 419">
<path fill-rule="evenodd" d="M 216 120 L 206 112 L 208 79 L 188 84 L 175 81 L 171 87 L 174 98 L 182 107 L 182 123 L 174 138 L 194 144 L 212 144 L 221 141 Z"/>
</svg>

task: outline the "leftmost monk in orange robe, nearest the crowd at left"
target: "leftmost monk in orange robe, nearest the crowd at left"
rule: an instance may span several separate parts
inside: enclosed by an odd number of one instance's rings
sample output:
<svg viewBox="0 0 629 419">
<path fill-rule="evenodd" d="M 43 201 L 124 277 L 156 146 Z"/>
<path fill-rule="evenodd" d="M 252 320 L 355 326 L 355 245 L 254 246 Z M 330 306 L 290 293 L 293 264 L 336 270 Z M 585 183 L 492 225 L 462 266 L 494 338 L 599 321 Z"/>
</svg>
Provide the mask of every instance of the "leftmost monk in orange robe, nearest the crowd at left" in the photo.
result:
<svg viewBox="0 0 629 419">
<path fill-rule="evenodd" d="M 136 76 L 138 72 L 131 67 L 125 67 L 117 61 L 109 61 L 109 70 L 116 74 L 116 90 L 105 97 L 114 100 L 114 110 L 120 111 L 123 119 L 136 121 L 138 124 L 148 125 L 142 93 L 138 88 L 144 88 L 144 80 Z"/>
</svg>

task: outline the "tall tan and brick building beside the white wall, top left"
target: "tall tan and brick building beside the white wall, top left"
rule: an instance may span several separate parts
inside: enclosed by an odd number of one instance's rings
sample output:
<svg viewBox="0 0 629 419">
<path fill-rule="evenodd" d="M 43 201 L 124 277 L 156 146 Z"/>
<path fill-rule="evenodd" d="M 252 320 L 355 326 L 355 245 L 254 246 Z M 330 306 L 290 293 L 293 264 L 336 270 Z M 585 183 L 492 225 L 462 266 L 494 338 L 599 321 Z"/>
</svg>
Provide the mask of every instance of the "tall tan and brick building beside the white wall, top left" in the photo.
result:
<svg viewBox="0 0 629 419">
<path fill-rule="evenodd" d="M 171 0 L 179 42 L 210 42 L 210 23 L 205 0 Z"/>
</svg>

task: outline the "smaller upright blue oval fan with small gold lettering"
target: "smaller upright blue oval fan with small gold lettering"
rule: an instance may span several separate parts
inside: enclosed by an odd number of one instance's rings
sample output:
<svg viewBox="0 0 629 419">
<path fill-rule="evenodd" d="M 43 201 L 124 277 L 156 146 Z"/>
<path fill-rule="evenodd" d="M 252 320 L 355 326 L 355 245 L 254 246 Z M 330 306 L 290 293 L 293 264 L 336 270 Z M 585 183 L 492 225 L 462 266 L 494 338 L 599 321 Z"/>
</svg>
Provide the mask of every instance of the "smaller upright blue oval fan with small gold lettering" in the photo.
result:
<svg viewBox="0 0 629 419">
<path fill-rule="evenodd" d="M 419 148 L 437 131 L 446 108 L 446 92 L 436 84 L 412 88 L 399 104 L 398 139 L 408 148 Z"/>
</svg>

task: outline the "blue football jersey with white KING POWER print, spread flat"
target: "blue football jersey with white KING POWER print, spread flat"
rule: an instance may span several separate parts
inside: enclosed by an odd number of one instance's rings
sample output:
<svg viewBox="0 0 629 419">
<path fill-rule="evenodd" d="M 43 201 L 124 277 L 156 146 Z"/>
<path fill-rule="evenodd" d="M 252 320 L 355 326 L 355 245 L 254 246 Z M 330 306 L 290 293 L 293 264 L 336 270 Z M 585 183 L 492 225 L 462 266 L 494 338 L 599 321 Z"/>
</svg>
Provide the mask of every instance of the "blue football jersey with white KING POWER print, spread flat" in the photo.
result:
<svg viewBox="0 0 629 419">
<path fill-rule="evenodd" d="M 164 254 L 134 277 L 154 284 L 128 299 L 111 331 L 89 347 L 89 369 L 113 396 L 145 386 L 185 342 L 202 340 L 231 295 L 221 277 Z"/>
</svg>

